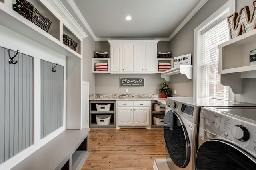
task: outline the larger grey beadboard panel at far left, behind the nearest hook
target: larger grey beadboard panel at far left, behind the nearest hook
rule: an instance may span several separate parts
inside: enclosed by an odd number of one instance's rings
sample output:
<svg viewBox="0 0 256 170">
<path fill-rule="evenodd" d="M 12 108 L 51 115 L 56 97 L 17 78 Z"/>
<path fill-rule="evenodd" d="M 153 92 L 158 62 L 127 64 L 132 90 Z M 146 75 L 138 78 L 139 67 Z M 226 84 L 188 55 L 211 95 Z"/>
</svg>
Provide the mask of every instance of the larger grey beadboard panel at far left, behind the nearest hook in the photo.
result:
<svg viewBox="0 0 256 170">
<path fill-rule="evenodd" d="M 33 57 L 0 47 L 0 164 L 33 144 Z"/>
</svg>

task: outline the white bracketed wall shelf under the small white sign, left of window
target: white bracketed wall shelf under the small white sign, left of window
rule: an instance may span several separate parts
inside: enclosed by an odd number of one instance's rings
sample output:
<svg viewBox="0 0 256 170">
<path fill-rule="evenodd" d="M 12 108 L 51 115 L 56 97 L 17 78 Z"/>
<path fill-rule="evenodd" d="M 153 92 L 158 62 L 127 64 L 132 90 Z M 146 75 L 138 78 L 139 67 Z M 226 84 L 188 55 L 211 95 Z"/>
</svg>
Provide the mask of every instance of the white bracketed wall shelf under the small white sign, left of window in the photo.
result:
<svg viewBox="0 0 256 170">
<path fill-rule="evenodd" d="M 170 76 L 175 74 L 184 74 L 188 79 L 193 78 L 193 65 L 180 65 L 161 73 L 161 77 L 170 81 Z"/>
</svg>

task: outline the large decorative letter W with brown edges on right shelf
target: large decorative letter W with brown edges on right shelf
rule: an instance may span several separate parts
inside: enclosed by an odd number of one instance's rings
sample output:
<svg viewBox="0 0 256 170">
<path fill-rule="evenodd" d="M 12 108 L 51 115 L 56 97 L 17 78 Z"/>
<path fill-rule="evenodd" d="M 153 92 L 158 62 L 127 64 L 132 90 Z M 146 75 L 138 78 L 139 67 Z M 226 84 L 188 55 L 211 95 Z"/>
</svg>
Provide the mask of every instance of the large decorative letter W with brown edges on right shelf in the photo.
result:
<svg viewBox="0 0 256 170">
<path fill-rule="evenodd" d="M 252 1 L 252 15 L 248 6 L 240 9 L 239 15 L 237 13 L 228 16 L 229 38 L 232 39 L 243 33 L 251 31 L 256 28 L 256 0 Z"/>
</svg>

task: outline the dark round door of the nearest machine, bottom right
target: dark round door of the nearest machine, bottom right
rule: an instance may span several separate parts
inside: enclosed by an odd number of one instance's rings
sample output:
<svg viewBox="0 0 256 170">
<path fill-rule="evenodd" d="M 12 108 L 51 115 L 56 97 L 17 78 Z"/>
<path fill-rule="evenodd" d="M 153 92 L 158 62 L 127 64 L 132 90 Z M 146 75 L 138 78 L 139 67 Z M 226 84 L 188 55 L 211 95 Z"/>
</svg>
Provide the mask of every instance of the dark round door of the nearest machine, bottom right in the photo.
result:
<svg viewBox="0 0 256 170">
<path fill-rule="evenodd" d="M 220 140 L 209 140 L 198 148 L 196 170 L 255 170 L 256 158 Z"/>
</svg>

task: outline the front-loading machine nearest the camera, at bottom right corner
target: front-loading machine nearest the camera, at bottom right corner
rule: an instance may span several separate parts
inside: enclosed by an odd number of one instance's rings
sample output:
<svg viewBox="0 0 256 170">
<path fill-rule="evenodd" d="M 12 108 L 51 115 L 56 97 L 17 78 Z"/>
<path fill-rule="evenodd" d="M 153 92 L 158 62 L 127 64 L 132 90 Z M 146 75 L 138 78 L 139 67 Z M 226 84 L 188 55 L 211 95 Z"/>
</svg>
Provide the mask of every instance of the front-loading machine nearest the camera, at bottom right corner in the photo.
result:
<svg viewBox="0 0 256 170">
<path fill-rule="evenodd" d="M 202 107 L 196 170 L 256 170 L 256 107 Z"/>
</svg>

